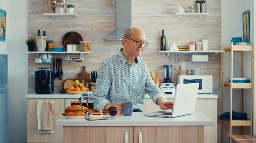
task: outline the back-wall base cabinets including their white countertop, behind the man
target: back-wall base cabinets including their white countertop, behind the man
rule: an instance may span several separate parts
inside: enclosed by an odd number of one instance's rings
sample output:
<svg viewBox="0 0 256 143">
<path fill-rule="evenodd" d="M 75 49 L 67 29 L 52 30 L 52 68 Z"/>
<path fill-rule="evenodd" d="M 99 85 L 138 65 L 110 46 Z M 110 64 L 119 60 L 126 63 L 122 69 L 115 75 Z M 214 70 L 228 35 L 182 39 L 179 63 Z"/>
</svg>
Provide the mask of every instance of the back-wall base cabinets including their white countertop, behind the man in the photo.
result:
<svg viewBox="0 0 256 143">
<path fill-rule="evenodd" d="M 62 113 L 71 100 L 78 100 L 81 95 L 73 94 L 28 94 L 27 98 L 27 142 L 48 142 L 63 143 L 63 128 L 56 126 L 56 119 L 62 117 Z M 166 94 L 167 101 L 174 101 L 174 95 Z M 217 143 L 217 100 L 215 94 L 198 94 L 195 111 L 202 112 L 214 121 L 214 126 L 204 126 L 204 143 Z M 36 104 L 37 101 L 54 102 L 54 133 L 40 134 L 37 130 Z M 141 106 L 144 112 L 159 111 L 159 106 L 152 102 L 152 99 L 145 94 L 145 104 Z M 158 118 L 157 118 L 158 119 Z M 151 127 L 150 127 L 151 128 Z"/>
</svg>

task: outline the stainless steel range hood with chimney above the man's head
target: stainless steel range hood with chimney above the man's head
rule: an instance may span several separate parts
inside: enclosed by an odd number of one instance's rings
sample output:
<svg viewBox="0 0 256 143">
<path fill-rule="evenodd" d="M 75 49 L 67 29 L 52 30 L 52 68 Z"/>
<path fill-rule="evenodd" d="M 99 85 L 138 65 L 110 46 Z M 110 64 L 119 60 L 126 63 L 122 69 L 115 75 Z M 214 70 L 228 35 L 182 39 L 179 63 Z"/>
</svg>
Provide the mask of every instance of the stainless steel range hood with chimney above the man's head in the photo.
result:
<svg viewBox="0 0 256 143">
<path fill-rule="evenodd" d="M 122 40 L 125 28 L 132 25 L 132 2 L 131 0 L 117 0 L 117 27 L 101 39 Z"/>
</svg>

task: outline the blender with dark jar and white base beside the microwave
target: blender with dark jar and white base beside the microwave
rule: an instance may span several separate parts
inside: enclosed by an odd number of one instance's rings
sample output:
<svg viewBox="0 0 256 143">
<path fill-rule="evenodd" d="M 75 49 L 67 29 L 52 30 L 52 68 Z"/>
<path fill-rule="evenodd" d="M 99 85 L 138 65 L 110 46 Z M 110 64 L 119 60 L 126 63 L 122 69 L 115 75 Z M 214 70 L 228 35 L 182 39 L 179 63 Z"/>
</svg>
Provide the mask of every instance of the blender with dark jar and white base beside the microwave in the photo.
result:
<svg viewBox="0 0 256 143">
<path fill-rule="evenodd" d="M 175 94 L 176 88 L 174 86 L 174 83 L 171 82 L 172 72 L 172 65 L 163 65 L 164 82 L 162 82 L 162 84 L 160 85 L 162 93 Z"/>
</svg>

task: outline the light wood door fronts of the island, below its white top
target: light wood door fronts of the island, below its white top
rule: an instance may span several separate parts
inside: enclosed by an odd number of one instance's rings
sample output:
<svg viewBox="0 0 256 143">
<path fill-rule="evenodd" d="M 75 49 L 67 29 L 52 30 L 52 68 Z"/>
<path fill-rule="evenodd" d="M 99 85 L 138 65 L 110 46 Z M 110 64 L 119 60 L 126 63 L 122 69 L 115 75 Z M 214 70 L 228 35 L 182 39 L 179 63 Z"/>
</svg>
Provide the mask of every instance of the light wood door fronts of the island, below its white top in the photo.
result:
<svg viewBox="0 0 256 143">
<path fill-rule="evenodd" d="M 63 143 L 203 143 L 202 134 L 202 126 L 64 126 Z"/>
</svg>

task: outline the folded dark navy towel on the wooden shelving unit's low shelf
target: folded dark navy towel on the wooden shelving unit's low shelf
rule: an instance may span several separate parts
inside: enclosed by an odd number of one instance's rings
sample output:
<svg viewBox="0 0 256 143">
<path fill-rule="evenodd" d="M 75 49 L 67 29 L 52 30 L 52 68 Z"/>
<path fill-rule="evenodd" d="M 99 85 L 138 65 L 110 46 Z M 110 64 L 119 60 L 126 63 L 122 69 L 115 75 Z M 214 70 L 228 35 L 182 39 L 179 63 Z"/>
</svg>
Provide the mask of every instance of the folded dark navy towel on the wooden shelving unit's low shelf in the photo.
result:
<svg viewBox="0 0 256 143">
<path fill-rule="evenodd" d="M 229 120 L 230 113 L 229 112 L 225 112 L 222 115 L 220 115 L 220 119 L 221 120 Z M 238 113 L 235 111 L 232 111 L 232 119 L 233 120 L 248 120 L 247 119 L 247 113 Z"/>
</svg>

